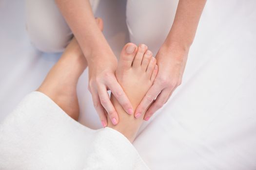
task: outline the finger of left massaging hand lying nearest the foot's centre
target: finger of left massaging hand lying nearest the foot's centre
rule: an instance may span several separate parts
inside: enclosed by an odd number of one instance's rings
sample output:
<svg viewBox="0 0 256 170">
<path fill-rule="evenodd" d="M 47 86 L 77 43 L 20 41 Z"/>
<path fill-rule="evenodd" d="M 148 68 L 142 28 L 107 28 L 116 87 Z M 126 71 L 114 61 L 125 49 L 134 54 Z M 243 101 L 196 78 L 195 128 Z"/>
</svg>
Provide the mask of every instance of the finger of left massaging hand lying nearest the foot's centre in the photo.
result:
<svg viewBox="0 0 256 170">
<path fill-rule="evenodd" d="M 129 101 L 128 97 L 124 93 L 122 87 L 119 85 L 116 78 L 112 80 L 108 80 L 107 84 L 108 88 L 111 90 L 112 94 L 116 97 L 120 105 L 123 107 L 123 109 L 128 113 L 129 115 L 133 114 L 133 106 L 131 102 Z"/>
</svg>

